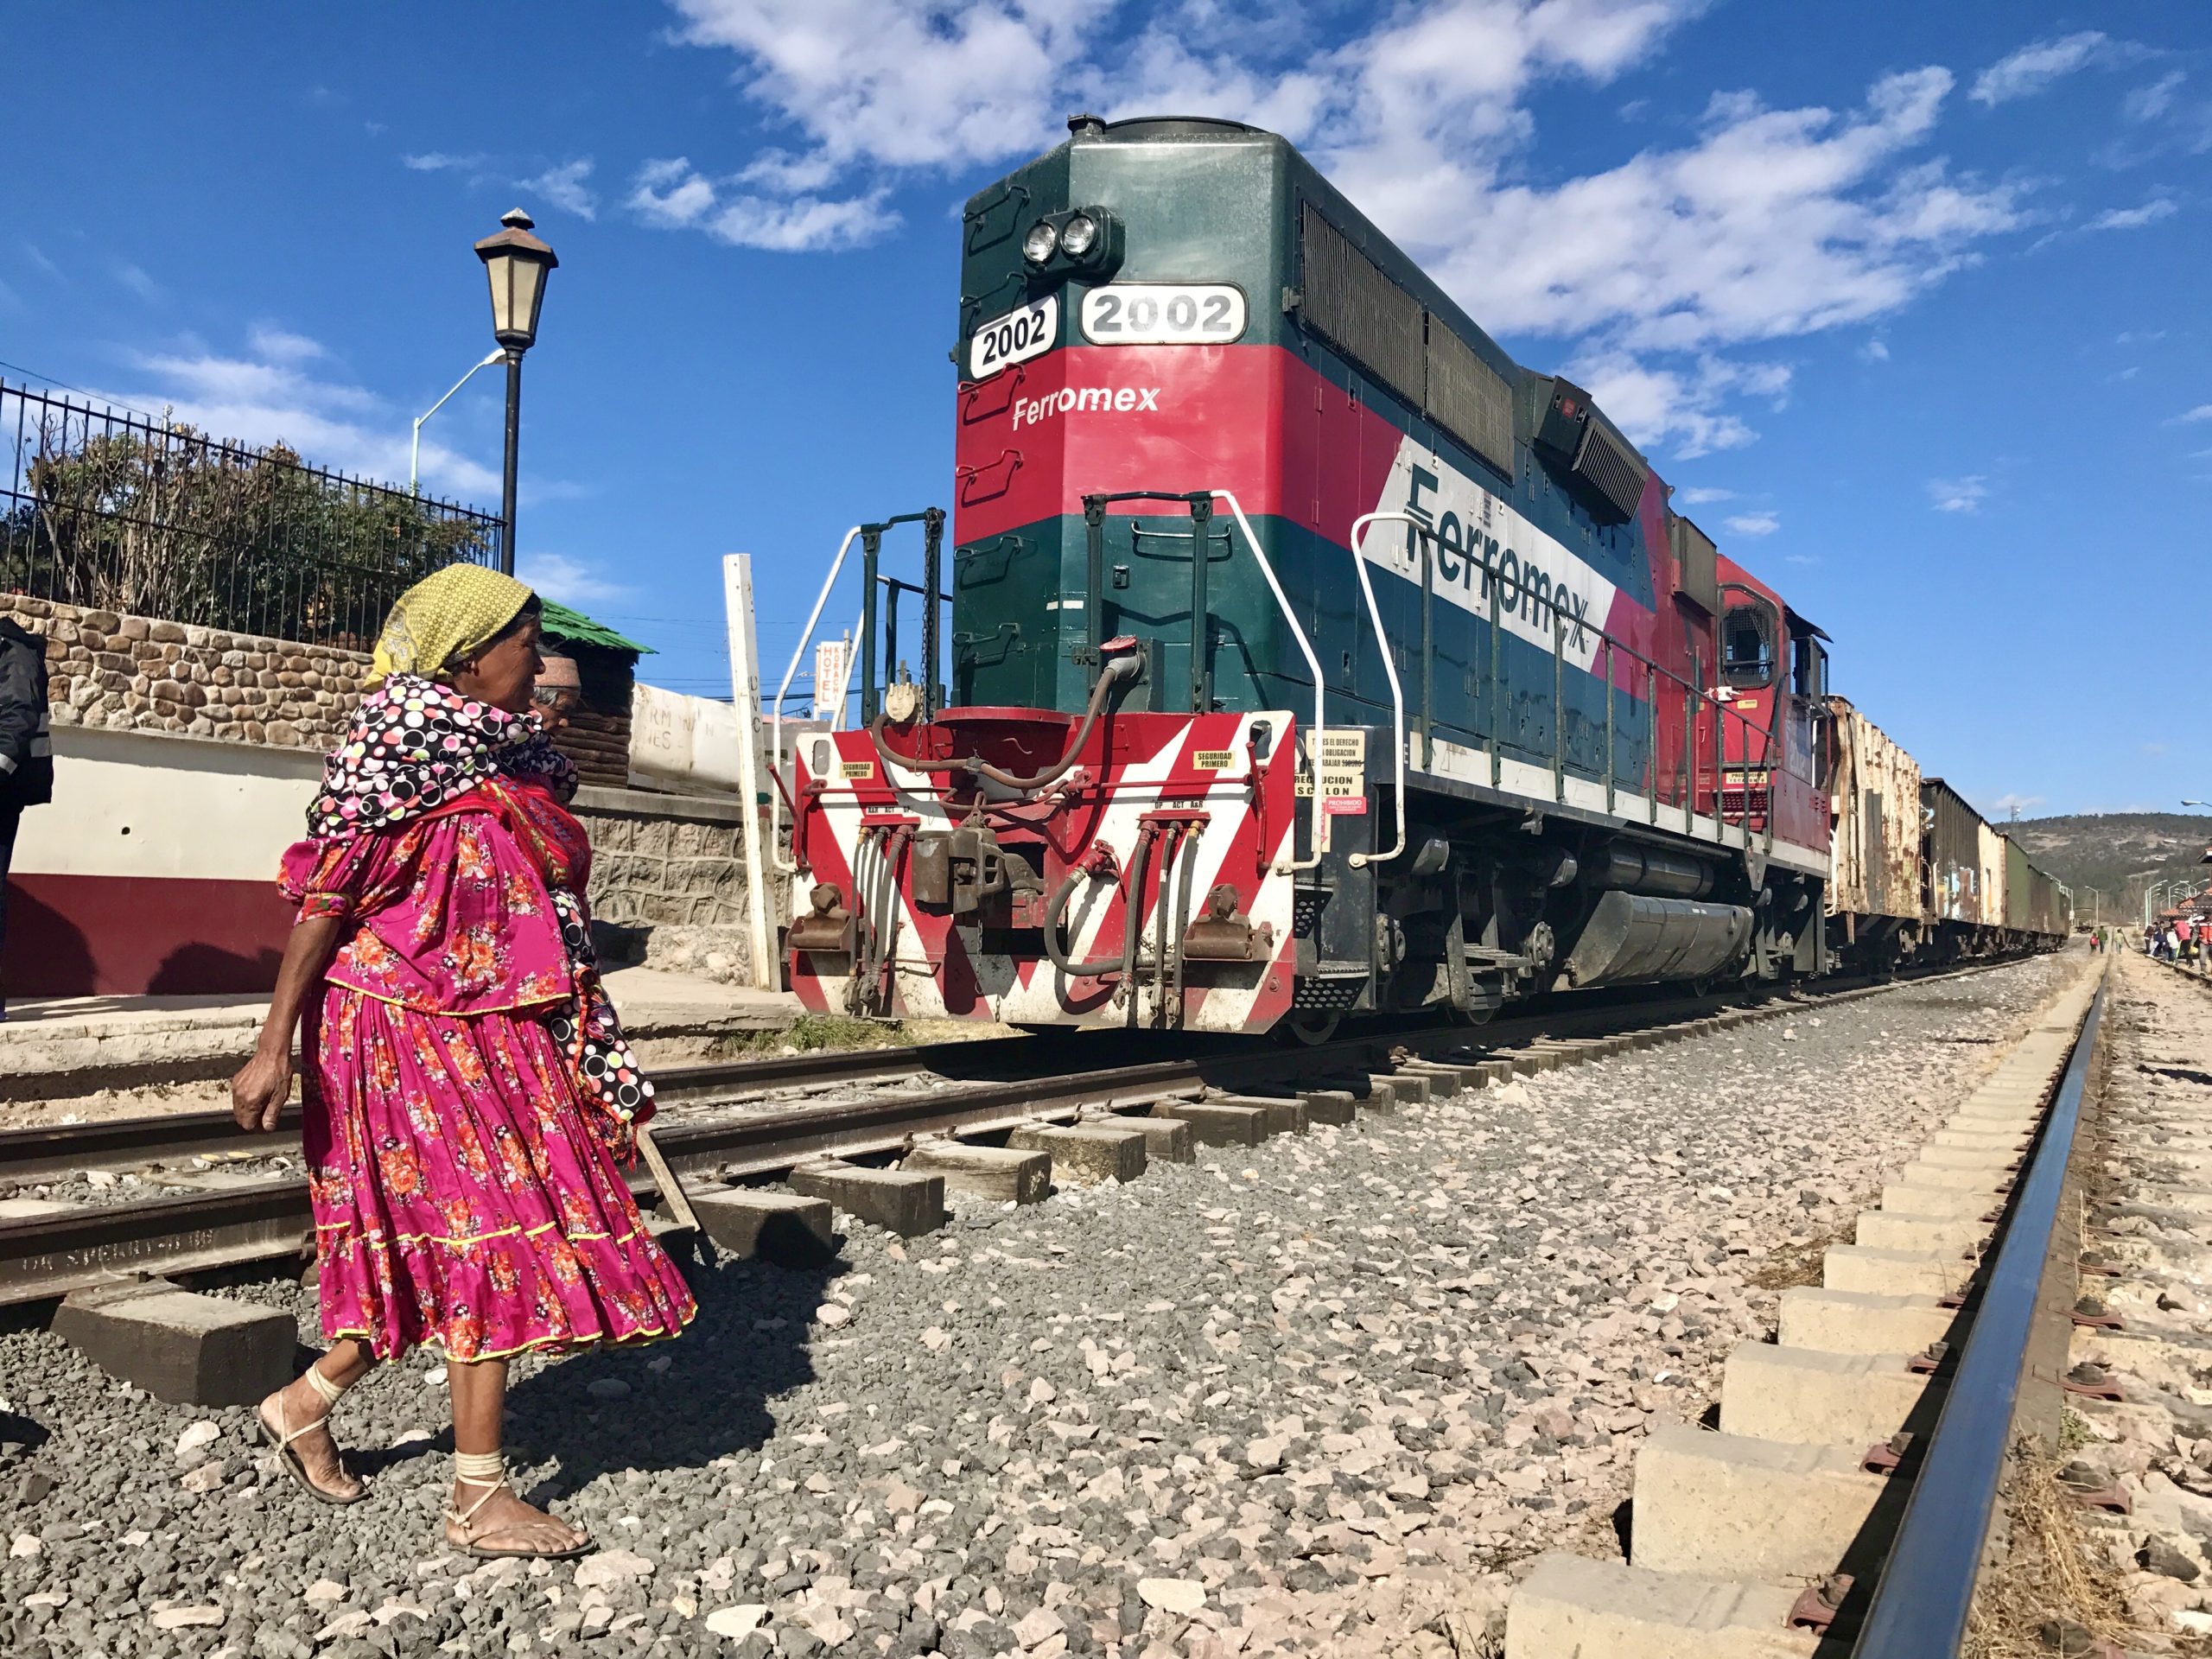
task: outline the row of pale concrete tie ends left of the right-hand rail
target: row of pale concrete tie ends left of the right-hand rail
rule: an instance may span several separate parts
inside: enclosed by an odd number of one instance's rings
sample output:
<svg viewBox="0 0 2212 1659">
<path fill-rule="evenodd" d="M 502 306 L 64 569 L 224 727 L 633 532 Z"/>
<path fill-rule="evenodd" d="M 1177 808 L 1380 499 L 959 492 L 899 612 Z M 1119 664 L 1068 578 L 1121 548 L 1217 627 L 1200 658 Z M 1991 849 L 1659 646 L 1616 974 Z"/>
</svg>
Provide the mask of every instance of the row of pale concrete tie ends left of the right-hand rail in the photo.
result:
<svg viewBox="0 0 2212 1659">
<path fill-rule="evenodd" d="M 1916 1358 L 1964 1336 L 1942 1301 L 1973 1252 L 2095 995 L 2081 973 L 1938 1130 L 1922 1161 L 1827 1252 L 1818 1287 L 1783 1296 L 1776 1343 L 1743 1343 L 1721 1378 L 1721 1431 L 1661 1429 L 1637 1451 L 1630 1562 L 1544 1555 L 1506 1613 L 1509 1659 L 1796 1659 L 1809 1586 L 1871 1584 L 1911 1493 L 1869 1453 L 1924 1440 L 1947 1383 Z M 1953 1157 L 1955 1155 L 1955 1157 Z M 1880 1458 L 1874 1458 L 1880 1462 Z"/>
</svg>

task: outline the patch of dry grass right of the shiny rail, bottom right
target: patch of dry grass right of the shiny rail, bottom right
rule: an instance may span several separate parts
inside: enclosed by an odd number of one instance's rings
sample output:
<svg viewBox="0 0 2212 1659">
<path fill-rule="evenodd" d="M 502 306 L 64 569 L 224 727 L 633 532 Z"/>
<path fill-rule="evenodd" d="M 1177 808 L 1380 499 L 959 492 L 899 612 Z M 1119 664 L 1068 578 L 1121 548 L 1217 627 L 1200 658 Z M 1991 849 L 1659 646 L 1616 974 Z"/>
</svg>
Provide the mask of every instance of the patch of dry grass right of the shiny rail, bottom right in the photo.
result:
<svg viewBox="0 0 2212 1659">
<path fill-rule="evenodd" d="M 2053 1646 L 2057 1619 L 2126 1646 L 2128 1617 L 2119 1573 L 2062 1495 L 2057 1458 L 2039 1440 L 2015 1447 L 2002 1502 L 2006 1551 L 1982 1575 L 1960 1659 L 2051 1659 L 2075 1648 Z"/>
</svg>

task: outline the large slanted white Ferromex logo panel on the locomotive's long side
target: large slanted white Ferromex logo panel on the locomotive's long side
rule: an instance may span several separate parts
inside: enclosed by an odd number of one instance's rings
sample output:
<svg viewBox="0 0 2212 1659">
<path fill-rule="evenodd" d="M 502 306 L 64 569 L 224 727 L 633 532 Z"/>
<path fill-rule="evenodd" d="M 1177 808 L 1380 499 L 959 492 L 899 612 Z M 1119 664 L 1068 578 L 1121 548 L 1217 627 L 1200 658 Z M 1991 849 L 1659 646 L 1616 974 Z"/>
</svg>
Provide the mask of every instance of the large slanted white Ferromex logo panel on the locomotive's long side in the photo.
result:
<svg viewBox="0 0 2212 1659">
<path fill-rule="evenodd" d="M 1597 635 L 1613 613 L 1613 582 L 1473 478 L 1400 438 L 1376 511 L 1407 513 L 1436 535 L 1440 599 L 1489 617 L 1495 584 L 1498 622 L 1506 633 L 1551 650 L 1557 617 L 1566 659 L 1577 668 L 1595 661 Z M 1374 524 L 1365 557 L 1418 584 L 1420 531 L 1413 524 Z"/>
</svg>

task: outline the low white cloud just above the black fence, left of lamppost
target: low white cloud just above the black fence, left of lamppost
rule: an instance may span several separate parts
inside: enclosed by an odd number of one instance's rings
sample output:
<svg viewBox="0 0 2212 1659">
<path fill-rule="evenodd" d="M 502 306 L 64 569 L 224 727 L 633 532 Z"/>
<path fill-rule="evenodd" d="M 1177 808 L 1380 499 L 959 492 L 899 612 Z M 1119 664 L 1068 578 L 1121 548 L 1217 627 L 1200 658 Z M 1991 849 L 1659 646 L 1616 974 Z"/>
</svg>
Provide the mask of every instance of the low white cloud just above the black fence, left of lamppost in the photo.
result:
<svg viewBox="0 0 2212 1659">
<path fill-rule="evenodd" d="M 133 363 L 142 385 L 100 396 L 137 409 L 164 409 L 168 420 L 197 427 L 210 438 L 281 442 L 314 467 L 405 487 L 409 416 L 367 387 L 314 374 L 312 365 L 327 358 L 321 341 L 257 327 L 239 356 L 206 347 L 142 354 Z M 425 429 L 422 487 L 429 493 L 495 502 L 500 476 L 447 449 Z"/>
</svg>

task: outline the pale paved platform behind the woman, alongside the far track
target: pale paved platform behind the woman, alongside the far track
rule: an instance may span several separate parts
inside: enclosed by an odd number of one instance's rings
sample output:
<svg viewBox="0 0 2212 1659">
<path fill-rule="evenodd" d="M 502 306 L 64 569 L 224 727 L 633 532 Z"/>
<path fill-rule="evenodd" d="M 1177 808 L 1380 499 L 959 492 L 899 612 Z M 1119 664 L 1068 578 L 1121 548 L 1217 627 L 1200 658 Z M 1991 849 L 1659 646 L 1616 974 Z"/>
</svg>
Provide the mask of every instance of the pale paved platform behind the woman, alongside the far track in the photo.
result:
<svg viewBox="0 0 2212 1659">
<path fill-rule="evenodd" d="M 606 975 L 646 1062 L 703 1057 L 739 1031 L 799 1018 L 787 991 L 626 967 Z M 268 998 L 104 995 L 11 1002 L 0 1022 L 0 1095 L 13 1099 L 219 1077 L 252 1051 Z"/>
</svg>

